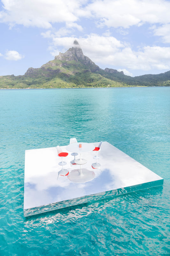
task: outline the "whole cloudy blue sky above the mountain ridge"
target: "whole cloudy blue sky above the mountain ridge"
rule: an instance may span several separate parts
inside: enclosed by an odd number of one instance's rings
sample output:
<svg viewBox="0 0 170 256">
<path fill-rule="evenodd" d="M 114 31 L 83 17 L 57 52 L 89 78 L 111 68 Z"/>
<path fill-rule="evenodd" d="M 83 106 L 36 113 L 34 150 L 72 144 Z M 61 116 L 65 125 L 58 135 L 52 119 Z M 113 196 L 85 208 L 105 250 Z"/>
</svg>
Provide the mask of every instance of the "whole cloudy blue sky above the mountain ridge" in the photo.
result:
<svg viewBox="0 0 170 256">
<path fill-rule="evenodd" d="M 78 40 L 100 68 L 170 70 L 169 0 L 2 0 L 0 76 L 40 68 Z"/>
</svg>

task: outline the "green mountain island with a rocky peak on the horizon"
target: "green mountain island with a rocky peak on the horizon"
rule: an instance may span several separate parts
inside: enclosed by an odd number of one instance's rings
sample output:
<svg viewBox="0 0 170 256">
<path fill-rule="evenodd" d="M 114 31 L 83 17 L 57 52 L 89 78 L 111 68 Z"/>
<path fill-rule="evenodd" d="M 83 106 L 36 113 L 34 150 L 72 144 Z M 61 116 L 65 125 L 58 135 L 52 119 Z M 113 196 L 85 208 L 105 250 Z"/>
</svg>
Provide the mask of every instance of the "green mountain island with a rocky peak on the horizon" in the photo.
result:
<svg viewBox="0 0 170 256">
<path fill-rule="evenodd" d="M 170 71 L 158 75 L 126 76 L 123 71 L 99 68 L 86 57 L 77 40 L 65 53 L 41 68 L 28 68 L 23 76 L 0 76 L 0 88 L 75 88 L 170 86 Z"/>
</svg>

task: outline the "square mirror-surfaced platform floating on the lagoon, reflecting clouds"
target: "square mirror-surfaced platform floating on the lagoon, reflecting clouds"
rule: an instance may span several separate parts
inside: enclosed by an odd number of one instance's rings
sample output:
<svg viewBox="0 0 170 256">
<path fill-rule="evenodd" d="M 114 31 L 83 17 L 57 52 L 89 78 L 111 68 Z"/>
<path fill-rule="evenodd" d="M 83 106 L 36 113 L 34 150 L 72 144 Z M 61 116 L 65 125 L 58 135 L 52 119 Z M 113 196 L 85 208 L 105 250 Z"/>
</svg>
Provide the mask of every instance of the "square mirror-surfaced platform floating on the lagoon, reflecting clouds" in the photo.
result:
<svg viewBox="0 0 170 256">
<path fill-rule="evenodd" d="M 97 147 L 99 142 L 91 144 Z M 161 177 L 107 141 L 98 152 L 100 169 L 92 168 L 95 151 L 82 153 L 87 163 L 82 165 L 81 177 L 80 165 L 70 164 L 74 156 L 66 146 L 61 148 L 69 153 L 64 157 L 68 176 L 58 177 L 62 166 L 55 147 L 25 151 L 24 216 L 163 185 Z"/>
</svg>

